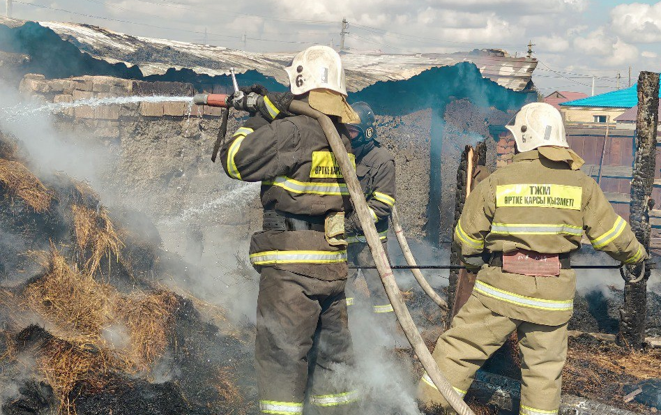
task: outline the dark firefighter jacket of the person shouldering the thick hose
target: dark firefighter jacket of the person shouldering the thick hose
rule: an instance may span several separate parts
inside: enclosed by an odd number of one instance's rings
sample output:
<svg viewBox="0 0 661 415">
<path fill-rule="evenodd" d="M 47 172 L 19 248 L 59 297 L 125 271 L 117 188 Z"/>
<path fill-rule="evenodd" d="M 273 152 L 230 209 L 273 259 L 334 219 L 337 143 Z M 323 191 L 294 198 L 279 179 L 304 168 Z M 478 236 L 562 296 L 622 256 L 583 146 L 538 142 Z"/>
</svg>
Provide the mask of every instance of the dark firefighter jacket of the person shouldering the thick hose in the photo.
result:
<svg viewBox="0 0 661 415">
<path fill-rule="evenodd" d="M 349 151 L 347 129 L 335 126 Z M 261 181 L 264 209 L 321 217 L 322 223 L 326 218 L 326 232 L 266 229 L 253 234 L 250 262 L 258 271 L 273 266 L 321 280 L 347 278 L 343 218 L 351 209 L 349 190 L 315 119 L 290 116 L 268 123 L 253 116 L 222 145 L 220 156 L 231 178 Z M 341 219 L 339 226 L 333 218 Z M 329 226 L 329 219 L 335 225 Z"/>
</svg>

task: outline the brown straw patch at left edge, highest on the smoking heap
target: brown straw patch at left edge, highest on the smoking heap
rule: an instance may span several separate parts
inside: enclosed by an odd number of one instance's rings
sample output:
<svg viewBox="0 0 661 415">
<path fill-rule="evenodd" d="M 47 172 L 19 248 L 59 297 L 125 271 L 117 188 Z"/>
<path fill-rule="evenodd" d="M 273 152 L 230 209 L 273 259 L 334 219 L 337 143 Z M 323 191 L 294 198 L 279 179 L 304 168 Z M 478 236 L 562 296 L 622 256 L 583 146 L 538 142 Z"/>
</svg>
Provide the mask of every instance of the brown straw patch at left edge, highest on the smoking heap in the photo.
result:
<svg viewBox="0 0 661 415">
<path fill-rule="evenodd" d="M 52 202 L 50 191 L 30 172 L 16 161 L 0 158 L 0 182 L 10 195 L 20 197 L 35 211 L 42 213 Z"/>
</svg>

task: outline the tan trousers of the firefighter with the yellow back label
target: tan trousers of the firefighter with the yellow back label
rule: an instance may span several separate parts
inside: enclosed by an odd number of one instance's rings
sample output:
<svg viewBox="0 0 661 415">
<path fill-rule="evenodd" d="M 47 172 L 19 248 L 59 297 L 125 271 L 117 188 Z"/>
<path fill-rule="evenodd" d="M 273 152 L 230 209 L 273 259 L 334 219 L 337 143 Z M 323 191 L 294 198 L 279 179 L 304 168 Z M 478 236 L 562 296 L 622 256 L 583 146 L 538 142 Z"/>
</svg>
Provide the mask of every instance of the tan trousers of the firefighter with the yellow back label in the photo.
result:
<svg viewBox="0 0 661 415">
<path fill-rule="evenodd" d="M 459 395 L 466 395 L 475 372 L 507 340 L 519 336 L 522 415 L 555 415 L 560 406 L 561 375 L 567 357 L 567 324 L 545 326 L 511 319 L 489 310 L 476 296 L 459 310 L 436 342 L 434 360 Z M 427 407 L 448 402 L 423 375 L 418 398 Z"/>
</svg>

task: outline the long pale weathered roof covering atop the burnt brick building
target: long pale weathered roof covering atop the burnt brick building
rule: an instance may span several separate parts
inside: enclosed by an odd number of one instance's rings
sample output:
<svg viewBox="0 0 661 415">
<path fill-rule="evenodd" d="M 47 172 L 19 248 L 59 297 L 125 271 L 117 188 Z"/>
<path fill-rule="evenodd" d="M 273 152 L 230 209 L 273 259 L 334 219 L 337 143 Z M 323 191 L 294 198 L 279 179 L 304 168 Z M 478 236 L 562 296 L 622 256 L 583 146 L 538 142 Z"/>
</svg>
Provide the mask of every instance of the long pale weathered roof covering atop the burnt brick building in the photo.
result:
<svg viewBox="0 0 661 415">
<path fill-rule="evenodd" d="M 0 18 L 8 26 L 21 21 Z M 39 22 L 52 29 L 82 52 L 109 63 L 137 66 L 144 76 L 162 75 L 170 68 L 188 68 L 197 74 L 229 75 L 229 68 L 237 73 L 257 70 L 262 75 L 289 84 L 282 68 L 294 57 L 294 52 L 257 53 L 227 47 L 198 45 L 175 40 L 130 36 L 89 24 Z M 360 91 L 379 81 L 407 80 L 425 70 L 453 66 L 469 61 L 475 63 L 484 77 L 501 86 L 522 91 L 537 67 L 536 59 L 515 58 L 497 51 L 474 50 L 456 54 L 383 54 L 378 52 L 349 52 L 342 55 L 347 73 L 347 89 Z"/>
</svg>

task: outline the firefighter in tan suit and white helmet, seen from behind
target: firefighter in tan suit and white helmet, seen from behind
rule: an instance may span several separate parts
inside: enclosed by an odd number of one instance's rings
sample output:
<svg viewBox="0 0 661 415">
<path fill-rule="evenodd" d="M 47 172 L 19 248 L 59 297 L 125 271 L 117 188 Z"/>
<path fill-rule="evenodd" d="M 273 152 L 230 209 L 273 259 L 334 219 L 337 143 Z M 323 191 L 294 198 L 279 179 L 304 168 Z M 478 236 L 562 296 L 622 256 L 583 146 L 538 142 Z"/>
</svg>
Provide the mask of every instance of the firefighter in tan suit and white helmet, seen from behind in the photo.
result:
<svg viewBox="0 0 661 415">
<path fill-rule="evenodd" d="M 434 359 L 464 395 L 476 370 L 512 331 L 519 338 L 520 414 L 557 414 L 576 275 L 570 255 L 585 233 L 592 246 L 625 264 L 648 258 L 630 226 L 565 139 L 551 105 L 524 106 L 507 126 L 520 153 L 476 186 L 454 240 L 468 265 L 483 256 L 469 301 L 436 343 Z M 479 263 L 478 263 L 479 265 Z M 425 405 L 447 403 L 423 375 Z"/>
</svg>

